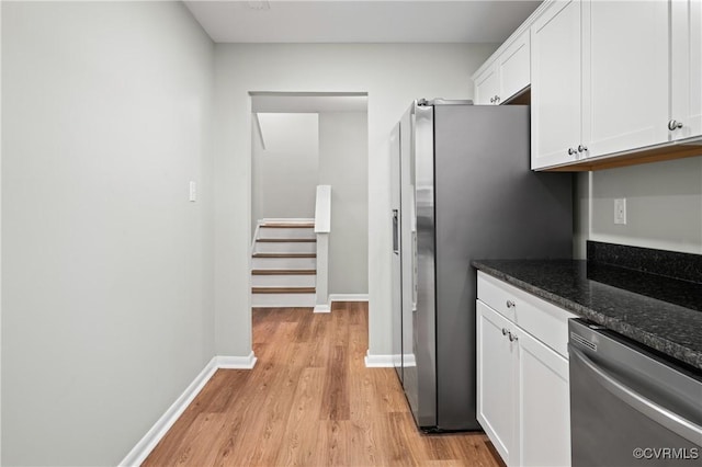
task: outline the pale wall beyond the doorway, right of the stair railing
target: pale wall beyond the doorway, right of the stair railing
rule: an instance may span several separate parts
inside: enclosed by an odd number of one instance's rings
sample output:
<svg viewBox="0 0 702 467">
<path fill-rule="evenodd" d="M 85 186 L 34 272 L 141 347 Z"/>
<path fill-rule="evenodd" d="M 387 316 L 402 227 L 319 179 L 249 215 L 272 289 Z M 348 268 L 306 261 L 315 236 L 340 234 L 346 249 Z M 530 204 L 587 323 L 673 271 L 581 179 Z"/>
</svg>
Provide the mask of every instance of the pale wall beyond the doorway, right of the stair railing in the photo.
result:
<svg viewBox="0 0 702 467">
<path fill-rule="evenodd" d="M 331 185 L 329 294 L 369 293 L 367 112 L 319 114 L 319 184 Z"/>
</svg>

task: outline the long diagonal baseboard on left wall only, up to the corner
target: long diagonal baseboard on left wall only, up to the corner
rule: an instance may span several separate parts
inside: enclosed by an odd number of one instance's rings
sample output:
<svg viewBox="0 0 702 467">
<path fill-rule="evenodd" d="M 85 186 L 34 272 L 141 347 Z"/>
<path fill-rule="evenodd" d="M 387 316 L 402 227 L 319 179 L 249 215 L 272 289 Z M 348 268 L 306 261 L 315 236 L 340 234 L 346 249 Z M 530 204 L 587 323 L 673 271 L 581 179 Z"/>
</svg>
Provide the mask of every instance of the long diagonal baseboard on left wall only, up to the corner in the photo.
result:
<svg viewBox="0 0 702 467">
<path fill-rule="evenodd" d="M 139 466 L 146 460 L 156 445 L 173 426 L 173 423 L 185 411 L 188 406 L 195 399 L 203 387 L 207 384 L 212 375 L 217 371 L 217 357 L 213 357 L 195 379 L 185 388 L 176 402 L 154 423 L 154 426 L 146 432 L 144 437 L 132 448 L 129 454 L 118 464 L 118 466 Z"/>
</svg>

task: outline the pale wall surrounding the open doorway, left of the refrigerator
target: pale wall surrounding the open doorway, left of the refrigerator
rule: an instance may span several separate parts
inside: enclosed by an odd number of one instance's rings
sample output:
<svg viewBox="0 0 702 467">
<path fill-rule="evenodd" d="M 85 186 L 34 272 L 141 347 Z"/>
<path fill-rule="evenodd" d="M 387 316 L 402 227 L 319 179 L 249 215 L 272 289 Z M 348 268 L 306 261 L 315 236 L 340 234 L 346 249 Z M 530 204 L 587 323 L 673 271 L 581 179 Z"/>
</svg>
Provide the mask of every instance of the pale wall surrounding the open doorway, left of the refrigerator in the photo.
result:
<svg viewBox="0 0 702 467">
<path fill-rule="evenodd" d="M 215 46 L 217 351 L 248 355 L 251 205 L 249 91 L 369 93 L 370 352 L 390 354 L 389 132 L 417 98 L 473 96 L 471 75 L 496 45 Z"/>
</svg>

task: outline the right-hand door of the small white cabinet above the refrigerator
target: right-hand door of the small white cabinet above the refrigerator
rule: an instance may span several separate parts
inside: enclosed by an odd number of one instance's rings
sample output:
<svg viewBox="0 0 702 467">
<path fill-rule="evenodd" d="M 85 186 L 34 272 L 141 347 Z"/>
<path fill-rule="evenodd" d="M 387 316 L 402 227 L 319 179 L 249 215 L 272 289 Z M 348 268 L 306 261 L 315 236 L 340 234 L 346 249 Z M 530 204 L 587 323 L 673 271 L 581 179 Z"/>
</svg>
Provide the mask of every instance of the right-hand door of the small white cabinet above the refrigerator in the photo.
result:
<svg viewBox="0 0 702 467">
<path fill-rule="evenodd" d="M 509 46 L 498 58 L 500 92 L 498 104 L 509 100 L 531 83 L 529 31 Z"/>
</svg>

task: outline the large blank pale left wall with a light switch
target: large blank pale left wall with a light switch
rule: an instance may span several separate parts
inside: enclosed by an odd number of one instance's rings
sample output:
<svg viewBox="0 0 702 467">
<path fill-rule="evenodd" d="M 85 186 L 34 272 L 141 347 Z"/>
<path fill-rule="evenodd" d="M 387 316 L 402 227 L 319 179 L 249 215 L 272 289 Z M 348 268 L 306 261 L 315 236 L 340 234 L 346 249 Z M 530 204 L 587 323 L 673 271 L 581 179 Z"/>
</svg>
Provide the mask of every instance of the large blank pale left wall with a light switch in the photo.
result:
<svg viewBox="0 0 702 467">
<path fill-rule="evenodd" d="M 3 465 L 117 464 L 214 355 L 213 53 L 181 3 L 2 2 Z"/>
</svg>

